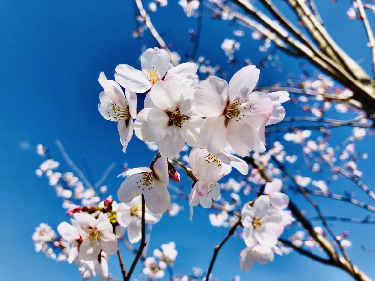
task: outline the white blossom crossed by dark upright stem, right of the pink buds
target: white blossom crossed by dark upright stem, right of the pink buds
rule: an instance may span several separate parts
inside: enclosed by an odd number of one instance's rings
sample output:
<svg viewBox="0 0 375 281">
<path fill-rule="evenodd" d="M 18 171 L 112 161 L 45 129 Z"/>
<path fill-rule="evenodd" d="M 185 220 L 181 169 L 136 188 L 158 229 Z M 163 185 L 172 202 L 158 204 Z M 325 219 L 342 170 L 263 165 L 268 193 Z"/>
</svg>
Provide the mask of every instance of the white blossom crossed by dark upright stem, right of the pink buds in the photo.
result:
<svg viewBox="0 0 375 281">
<path fill-rule="evenodd" d="M 116 212 L 117 221 L 123 227 L 127 227 L 127 235 L 130 243 L 136 243 L 141 239 L 142 201 L 141 196 L 134 197 L 127 204 L 120 203 Z M 162 216 L 145 210 L 146 223 L 156 223 Z"/>
</svg>

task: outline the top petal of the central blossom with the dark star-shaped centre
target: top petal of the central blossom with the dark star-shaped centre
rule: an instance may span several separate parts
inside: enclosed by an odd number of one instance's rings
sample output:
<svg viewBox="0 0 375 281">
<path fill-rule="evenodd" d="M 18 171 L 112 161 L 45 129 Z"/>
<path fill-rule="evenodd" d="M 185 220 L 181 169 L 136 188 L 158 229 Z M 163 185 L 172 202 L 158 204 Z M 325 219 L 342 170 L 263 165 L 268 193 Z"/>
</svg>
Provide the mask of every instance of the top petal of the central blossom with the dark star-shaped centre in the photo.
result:
<svg viewBox="0 0 375 281">
<path fill-rule="evenodd" d="M 182 99 L 184 88 L 177 81 L 156 83 L 149 93 L 152 103 L 159 109 L 173 112 Z"/>
</svg>

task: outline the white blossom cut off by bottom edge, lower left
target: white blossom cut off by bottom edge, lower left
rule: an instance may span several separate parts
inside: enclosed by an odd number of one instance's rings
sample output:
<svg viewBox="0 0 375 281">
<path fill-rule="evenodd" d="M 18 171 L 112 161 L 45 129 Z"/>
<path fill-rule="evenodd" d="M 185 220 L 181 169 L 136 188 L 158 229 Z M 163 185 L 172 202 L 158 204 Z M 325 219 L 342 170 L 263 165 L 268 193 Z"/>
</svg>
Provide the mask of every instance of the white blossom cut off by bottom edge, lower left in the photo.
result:
<svg viewBox="0 0 375 281">
<path fill-rule="evenodd" d="M 109 270 L 107 255 L 104 252 L 100 253 L 100 259 L 97 258 L 94 261 L 78 261 L 78 270 L 81 273 L 82 280 L 89 280 L 96 275 L 100 281 L 108 280 Z"/>
</svg>

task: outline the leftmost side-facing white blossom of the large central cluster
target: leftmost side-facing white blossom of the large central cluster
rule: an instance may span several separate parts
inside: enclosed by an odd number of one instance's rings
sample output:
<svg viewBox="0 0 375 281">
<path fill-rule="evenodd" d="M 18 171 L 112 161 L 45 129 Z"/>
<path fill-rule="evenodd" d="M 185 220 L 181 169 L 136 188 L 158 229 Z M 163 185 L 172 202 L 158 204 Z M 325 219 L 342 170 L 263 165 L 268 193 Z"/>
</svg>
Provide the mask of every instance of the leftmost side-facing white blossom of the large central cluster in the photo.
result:
<svg viewBox="0 0 375 281">
<path fill-rule="evenodd" d="M 117 123 L 125 153 L 133 136 L 133 118 L 137 115 L 137 95 L 125 86 L 125 98 L 120 85 L 113 80 L 108 80 L 104 72 L 100 73 L 98 81 L 104 89 L 99 95 L 99 112 L 106 120 Z"/>
</svg>

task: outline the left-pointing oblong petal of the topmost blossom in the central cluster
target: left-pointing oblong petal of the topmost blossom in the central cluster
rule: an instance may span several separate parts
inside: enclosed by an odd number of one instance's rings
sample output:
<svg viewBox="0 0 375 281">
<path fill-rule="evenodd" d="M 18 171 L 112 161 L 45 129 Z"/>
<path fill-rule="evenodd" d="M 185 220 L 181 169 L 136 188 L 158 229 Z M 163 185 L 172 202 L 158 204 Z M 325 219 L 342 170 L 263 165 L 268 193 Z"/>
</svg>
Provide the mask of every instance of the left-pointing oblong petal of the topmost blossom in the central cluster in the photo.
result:
<svg viewBox="0 0 375 281">
<path fill-rule="evenodd" d="M 144 93 L 152 86 L 142 71 L 127 64 L 116 66 L 115 80 L 122 87 L 130 87 L 130 89 L 137 93 Z"/>
</svg>

